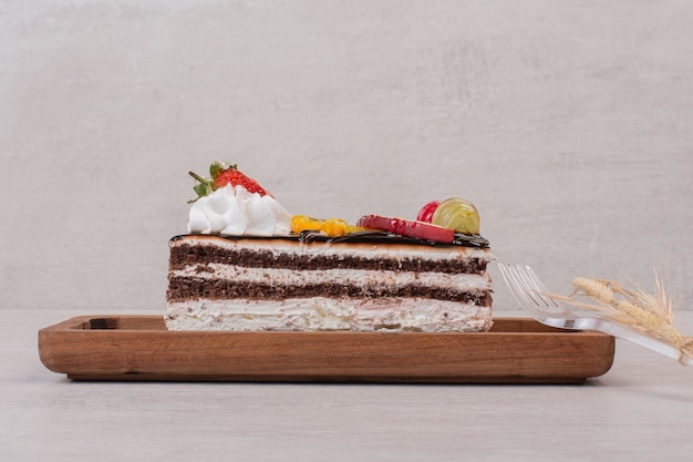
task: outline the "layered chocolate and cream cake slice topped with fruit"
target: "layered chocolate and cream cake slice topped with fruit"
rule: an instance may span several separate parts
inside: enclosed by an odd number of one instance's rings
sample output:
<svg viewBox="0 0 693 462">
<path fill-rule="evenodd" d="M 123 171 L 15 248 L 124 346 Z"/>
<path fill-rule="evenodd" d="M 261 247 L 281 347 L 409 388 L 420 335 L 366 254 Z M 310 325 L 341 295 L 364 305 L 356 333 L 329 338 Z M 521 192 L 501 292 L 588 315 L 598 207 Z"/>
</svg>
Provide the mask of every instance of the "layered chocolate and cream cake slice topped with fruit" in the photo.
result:
<svg viewBox="0 0 693 462">
<path fill-rule="evenodd" d="M 368 215 L 354 227 L 291 216 L 257 182 L 218 179 L 229 171 L 238 177 L 225 165 L 196 176 L 188 234 L 169 242 L 168 329 L 490 328 L 493 256 L 468 203 L 428 204 L 431 216 L 413 222 Z M 434 224 L 461 214 L 473 216 L 463 219 L 472 232 Z"/>
</svg>

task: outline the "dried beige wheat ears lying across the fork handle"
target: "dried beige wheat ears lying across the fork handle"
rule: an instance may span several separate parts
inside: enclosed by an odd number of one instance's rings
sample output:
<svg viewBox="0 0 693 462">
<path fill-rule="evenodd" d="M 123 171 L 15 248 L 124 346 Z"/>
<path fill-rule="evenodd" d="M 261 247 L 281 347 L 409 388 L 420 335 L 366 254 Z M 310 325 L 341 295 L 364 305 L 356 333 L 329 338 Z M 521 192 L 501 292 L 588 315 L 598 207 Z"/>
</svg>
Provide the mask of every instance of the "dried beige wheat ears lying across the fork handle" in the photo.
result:
<svg viewBox="0 0 693 462">
<path fill-rule="evenodd" d="M 635 287 L 624 288 L 608 279 L 578 277 L 572 279 L 575 290 L 569 296 L 547 294 L 548 297 L 575 307 L 598 311 L 606 318 L 628 325 L 650 337 L 673 345 L 684 357 L 693 358 L 693 337 L 685 337 L 674 328 L 672 304 L 659 276 L 655 275 L 656 295 Z M 591 299 L 593 304 L 576 297 Z"/>
</svg>

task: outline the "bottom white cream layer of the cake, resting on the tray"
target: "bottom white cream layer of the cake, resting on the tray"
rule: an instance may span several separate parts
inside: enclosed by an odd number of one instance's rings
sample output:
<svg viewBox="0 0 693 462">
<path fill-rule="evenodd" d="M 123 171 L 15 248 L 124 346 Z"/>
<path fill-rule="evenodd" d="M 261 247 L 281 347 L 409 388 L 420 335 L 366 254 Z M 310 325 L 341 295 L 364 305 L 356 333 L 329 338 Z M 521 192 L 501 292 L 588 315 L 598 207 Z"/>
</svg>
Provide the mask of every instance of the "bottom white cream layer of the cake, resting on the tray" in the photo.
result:
<svg viewBox="0 0 693 462">
<path fill-rule="evenodd" d="M 473 332 L 486 331 L 493 324 L 490 308 L 454 301 L 320 297 L 173 302 L 165 321 L 169 330 L 383 332 Z"/>
</svg>

